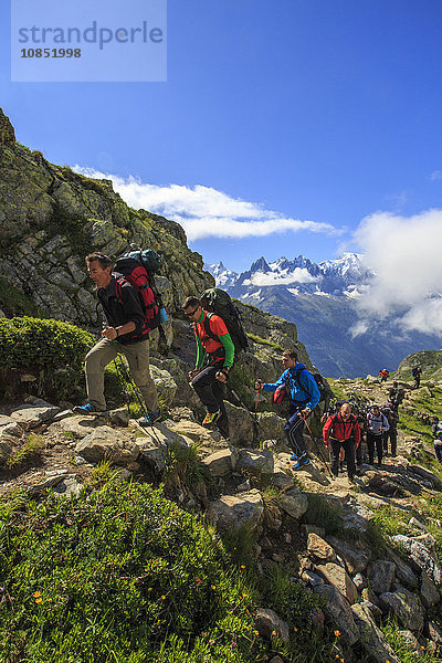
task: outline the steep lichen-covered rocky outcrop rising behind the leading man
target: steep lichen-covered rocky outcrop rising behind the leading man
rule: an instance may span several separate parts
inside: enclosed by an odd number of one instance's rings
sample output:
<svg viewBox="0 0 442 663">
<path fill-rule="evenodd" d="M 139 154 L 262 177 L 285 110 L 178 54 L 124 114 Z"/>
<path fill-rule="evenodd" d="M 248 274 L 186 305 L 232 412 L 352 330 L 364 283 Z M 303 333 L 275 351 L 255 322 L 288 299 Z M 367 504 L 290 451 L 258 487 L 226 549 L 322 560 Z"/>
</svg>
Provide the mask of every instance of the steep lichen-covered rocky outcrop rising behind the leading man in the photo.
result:
<svg viewBox="0 0 442 663">
<path fill-rule="evenodd" d="M 94 250 L 110 257 L 131 243 L 162 251 L 157 285 L 171 312 L 185 295 L 214 284 L 177 223 L 131 210 L 110 181 L 50 164 L 41 152 L 15 143 L 2 112 L 0 209 L 0 242 L 8 249 L 0 259 L 0 277 L 50 317 L 96 324 L 93 284 L 84 265 L 84 256 Z"/>
</svg>

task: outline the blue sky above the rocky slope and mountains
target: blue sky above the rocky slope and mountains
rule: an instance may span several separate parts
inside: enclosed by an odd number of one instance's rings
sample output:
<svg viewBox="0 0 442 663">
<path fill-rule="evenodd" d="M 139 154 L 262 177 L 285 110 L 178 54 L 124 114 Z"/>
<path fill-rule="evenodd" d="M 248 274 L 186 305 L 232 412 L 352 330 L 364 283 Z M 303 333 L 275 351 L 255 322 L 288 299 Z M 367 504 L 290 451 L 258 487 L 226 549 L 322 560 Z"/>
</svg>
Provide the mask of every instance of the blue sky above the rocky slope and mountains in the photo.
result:
<svg viewBox="0 0 442 663">
<path fill-rule="evenodd" d="M 115 176 L 207 262 L 333 259 L 366 218 L 441 208 L 438 0 L 169 0 L 166 83 L 11 83 L 0 12 L 18 140 Z"/>
</svg>

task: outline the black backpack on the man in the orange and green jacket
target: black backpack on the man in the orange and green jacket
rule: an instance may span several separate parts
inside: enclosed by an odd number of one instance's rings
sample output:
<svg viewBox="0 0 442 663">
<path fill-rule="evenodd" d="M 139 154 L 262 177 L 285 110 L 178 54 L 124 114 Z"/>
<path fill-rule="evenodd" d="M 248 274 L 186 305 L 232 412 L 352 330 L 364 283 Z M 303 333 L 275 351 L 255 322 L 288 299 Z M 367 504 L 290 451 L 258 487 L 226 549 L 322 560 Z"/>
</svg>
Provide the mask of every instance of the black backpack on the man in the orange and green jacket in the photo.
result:
<svg viewBox="0 0 442 663">
<path fill-rule="evenodd" d="M 209 314 L 214 313 L 223 319 L 233 341 L 235 355 L 238 355 L 241 350 L 246 350 L 249 348 L 249 339 L 242 326 L 238 308 L 234 306 L 230 295 L 219 287 L 212 287 L 207 290 L 201 295 L 200 299 L 202 306 Z M 213 338 L 213 340 L 219 340 L 218 336 L 215 336 L 210 329 L 207 317 L 204 319 L 204 330 L 210 338 Z"/>
</svg>

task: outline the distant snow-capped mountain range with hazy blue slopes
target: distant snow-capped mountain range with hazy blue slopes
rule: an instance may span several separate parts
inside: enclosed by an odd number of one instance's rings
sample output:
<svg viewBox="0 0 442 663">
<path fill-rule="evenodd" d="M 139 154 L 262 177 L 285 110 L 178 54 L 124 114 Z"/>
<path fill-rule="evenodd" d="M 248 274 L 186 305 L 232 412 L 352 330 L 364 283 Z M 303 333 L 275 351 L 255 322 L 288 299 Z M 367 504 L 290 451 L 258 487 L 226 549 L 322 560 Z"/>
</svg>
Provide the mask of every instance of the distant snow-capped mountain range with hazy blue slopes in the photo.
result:
<svg viewBox="0 0 442 663">
<path fill-rule="evenodd" d="M 206 269 L 231 296 L 295 323 L 312 361 L 330 378 L 377 375 L 380 367 L 396 370 L 407 355 L 441 345 L 436 336 L 403 332 L 392 317 L 371 319 L 364 334 L 351 335 L 359 319 L 357 301 L 373 277 L 357 253 L 320 263 L 304 255 L 272 263 L 260 257 L 242 274 L 222 263 Z"/>
</svg>

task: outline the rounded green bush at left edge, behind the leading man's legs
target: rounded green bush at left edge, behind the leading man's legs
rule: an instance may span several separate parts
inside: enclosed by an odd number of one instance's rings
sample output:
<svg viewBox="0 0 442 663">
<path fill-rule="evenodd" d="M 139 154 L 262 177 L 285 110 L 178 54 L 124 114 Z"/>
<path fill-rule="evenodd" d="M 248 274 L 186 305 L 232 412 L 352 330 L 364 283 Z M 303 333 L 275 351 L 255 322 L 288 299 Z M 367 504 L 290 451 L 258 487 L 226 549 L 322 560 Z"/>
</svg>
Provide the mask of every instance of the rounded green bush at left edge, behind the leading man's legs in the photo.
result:
<svg viewBox="0 0 442 663">
<path fill-rule="evenodd" d="M 52 319 L 0 319 L 0 378 L 3 393 L 20 389 L 15 371 L 39 378 L 39 393 L 67 398 L 83 383 L 84 357 L 93 344 L 87 332 Z"/>
</svg>

